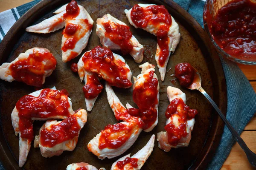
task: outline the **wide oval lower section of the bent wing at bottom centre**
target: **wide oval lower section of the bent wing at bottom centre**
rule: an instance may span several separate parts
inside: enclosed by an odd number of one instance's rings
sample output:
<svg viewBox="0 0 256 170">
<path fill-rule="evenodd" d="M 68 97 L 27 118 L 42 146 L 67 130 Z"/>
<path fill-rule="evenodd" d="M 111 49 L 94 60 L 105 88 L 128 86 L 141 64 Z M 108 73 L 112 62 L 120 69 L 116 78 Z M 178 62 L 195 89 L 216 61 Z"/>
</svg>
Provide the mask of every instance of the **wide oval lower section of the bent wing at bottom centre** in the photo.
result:
<svg viewBox="0 0 256 170">
<path fill-rule="evenodd" d="M 99 159 L 114 158 L 128 150 L 137 140 L 142 129 L 133 122 L 108 125 L 87 145 Z"/>
</svg>

